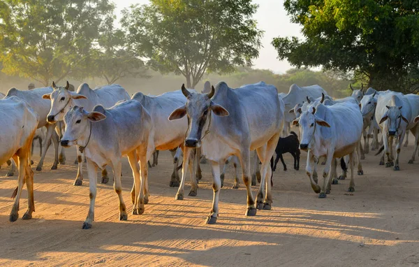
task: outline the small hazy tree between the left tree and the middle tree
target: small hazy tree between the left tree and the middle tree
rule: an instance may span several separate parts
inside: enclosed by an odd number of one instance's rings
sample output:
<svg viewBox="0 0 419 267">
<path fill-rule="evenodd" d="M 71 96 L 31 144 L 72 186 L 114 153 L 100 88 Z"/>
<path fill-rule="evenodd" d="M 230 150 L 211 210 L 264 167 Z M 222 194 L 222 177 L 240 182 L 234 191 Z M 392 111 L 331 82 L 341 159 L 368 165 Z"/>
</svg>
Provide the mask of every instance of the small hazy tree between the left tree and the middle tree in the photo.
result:
<svg viewBox="0 0 419 267">
<path fill-rule="evenodd" d="M 103 34 L 91 54 L 91 77 L 105 78 L 109 85 L 120 78 L 147 77 L 144 62 L 126 46 L 124 31 L 120 29 Z"/>
</svg>

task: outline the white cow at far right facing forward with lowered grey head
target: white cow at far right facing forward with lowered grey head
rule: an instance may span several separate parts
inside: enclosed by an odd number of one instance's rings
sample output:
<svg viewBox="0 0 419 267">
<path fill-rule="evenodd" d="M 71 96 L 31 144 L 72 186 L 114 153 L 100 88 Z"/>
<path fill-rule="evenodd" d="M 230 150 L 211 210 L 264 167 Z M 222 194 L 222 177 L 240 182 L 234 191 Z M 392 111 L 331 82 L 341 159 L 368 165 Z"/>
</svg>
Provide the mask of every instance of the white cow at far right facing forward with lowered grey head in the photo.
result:
<svg viewBox="0 0 419 267">
<path fill-rule="evenodd" d="M 387 162 L 385 163 L 385 167 L 394 165 L 394 170 L 399 171 L 399 154 L 402 142 L 409 124 L 413 122 L 412 108 L 409 100 L 402 93 L 385 92 L 380 94 L 378 96 L 375 117 L 383 133 L 384 142 L 383 147 L 377 153 L 379 154 L 384 150 L 380 165 L 384 165 L 384 155 L 386 154 Z M 398 141 L 396 146 L 397 156 L 394 162 L 392 142 L 395 137 L 398 138 Z"/>
</svg>

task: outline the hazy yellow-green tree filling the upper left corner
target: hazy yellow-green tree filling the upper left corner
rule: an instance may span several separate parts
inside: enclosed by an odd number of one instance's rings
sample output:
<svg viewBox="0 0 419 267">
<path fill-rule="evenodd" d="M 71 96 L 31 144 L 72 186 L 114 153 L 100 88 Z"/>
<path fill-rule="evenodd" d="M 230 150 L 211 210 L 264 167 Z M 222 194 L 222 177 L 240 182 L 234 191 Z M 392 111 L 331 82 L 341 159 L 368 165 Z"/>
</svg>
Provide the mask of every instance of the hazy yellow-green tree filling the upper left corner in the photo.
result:
<svg viewBox="0 0 419 267">
<path fill-rule="evenodd" d="M 91 45 L 112 27 L 113 10 L 108 0 L 0 0 L 3 72 L 45 86 L 77 69 L 86 77 Z"/>
</svg>

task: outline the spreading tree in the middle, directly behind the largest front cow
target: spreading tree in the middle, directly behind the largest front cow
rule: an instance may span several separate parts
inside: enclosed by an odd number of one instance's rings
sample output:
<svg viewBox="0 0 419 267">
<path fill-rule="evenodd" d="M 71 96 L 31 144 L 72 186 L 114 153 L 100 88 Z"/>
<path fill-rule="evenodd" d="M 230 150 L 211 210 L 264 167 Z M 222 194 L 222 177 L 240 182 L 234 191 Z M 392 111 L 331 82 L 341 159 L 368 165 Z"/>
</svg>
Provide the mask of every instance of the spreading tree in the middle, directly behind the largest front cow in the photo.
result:
<svg viewBox="0 0 419 267">
<path fill-rule="evenodd" d="M 133 48 L 161 73 L 182 74 L 189 88 L 206 71 L 230 73 L 258 57 L 262 31 L 251 0 L 151 0 L 123 11 Z"/>
</svg>

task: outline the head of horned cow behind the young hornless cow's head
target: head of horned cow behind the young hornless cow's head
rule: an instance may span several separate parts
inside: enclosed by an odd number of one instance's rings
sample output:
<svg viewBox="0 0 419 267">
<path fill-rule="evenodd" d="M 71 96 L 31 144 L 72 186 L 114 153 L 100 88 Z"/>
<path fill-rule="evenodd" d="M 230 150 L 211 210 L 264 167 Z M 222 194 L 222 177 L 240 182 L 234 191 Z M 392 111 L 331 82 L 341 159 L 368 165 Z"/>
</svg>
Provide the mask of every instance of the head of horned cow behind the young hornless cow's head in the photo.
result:
<svg viewBox="0 0 419 267">
<path fill-rule="evenodd" d="M 50 113 L 47 115 L 47 122 L 55 123 L 64 120 L 64 114 L 71 108 L 72 99 L 87 99 L 86 96 L 71 92 L 68 90 L 70 84 L 66 83 L 66 86 L 57 86 L 55 82 L 52 82 L 51 94 L 44 94 L 43 99 L 51 99 Z"/>
</svg>

